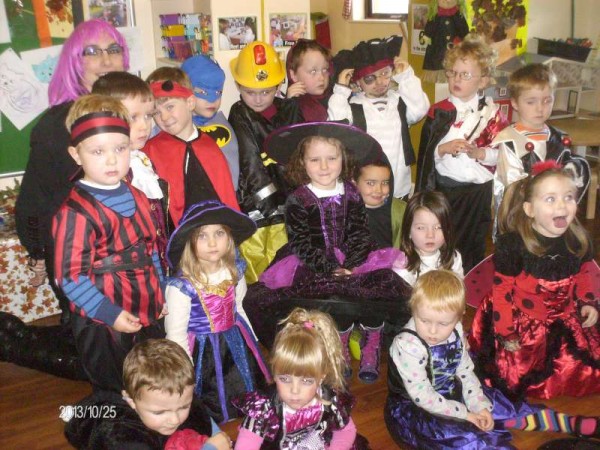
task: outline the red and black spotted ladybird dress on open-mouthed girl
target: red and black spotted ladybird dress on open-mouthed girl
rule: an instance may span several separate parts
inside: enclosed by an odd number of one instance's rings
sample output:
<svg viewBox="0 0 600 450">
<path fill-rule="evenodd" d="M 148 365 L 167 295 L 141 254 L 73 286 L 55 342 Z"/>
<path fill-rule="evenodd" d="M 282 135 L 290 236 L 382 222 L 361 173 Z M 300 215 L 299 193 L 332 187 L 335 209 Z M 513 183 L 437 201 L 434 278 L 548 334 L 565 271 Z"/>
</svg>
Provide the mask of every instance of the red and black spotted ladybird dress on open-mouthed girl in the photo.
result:
<svg viewBox="0 0 600 450">
<path fill-rule="evenodd" d="M 475 364 L 511 395 L 599 393 L 599 325 L 583 328 L 580 308 L 598 309 L 600 272 L 589 256 L 571 253 L 564 236 L 537 238 L 548 249 L 543 256 L 529 253 L 518 234 L 498 238 L 492 292 L 469 336 Z M 521 348 L 509 352 L 502 342 L 515 339 Z"/>
</svg>

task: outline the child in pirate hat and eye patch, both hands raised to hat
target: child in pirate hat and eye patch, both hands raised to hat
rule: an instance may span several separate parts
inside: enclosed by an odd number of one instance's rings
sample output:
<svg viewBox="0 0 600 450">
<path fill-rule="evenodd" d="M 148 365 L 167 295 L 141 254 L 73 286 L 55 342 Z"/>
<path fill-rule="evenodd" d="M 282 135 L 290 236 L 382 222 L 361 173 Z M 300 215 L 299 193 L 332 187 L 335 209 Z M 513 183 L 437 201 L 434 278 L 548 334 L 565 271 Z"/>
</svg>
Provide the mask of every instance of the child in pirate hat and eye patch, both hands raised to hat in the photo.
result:
<svg viewBox="0 0 600 450">
<path fill-rule="evenodd" d="M 349 120 L 379 142 L 392 166 L 393 195 L 405 199 L 416 161 L 408 127 L 425 116 L 429 100 L 413 69 L 398 57 L 401 45 L 399 36 L 371 39 L 336 56 L 339 76 L 328 115 L 329 120 Z M 355 95 L 352 81 L 360 88 Z"/>
</svg>

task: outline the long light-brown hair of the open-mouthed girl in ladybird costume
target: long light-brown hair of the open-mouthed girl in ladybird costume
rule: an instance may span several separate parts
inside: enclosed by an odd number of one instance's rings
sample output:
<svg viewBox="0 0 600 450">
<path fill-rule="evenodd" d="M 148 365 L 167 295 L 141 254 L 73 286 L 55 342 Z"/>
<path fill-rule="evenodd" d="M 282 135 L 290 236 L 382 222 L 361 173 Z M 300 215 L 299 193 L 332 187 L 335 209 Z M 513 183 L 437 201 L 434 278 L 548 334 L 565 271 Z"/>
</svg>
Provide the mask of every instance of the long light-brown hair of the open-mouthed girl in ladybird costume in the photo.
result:
<svg viewBox="0 0 600 450">
<path fill-rule="evenodd" d="M 554 168 L 511 183 L 502 198 L 502 203 L 498 209 L 498 232 L 499 234 L 515 232 L 521 236 L 527 251 L 536 256 L 543 256 L 546 253 L 546 247 L 538 240 L 537 234 L 533 229 L 533 219 L 525 214 L 523 204 L 531 203 L 535 194 L 536 186 L 550 177 L 563 177 L 571 182 L 575 187 L 574 174 L 570 169 Z M 584 257 L 591 248 L 590 237 L 585 228 L 577 219 L 573 218 L 569 228 L 564 233 L 567 248 L 571 253 L 578 257 Z"/>
</svg>

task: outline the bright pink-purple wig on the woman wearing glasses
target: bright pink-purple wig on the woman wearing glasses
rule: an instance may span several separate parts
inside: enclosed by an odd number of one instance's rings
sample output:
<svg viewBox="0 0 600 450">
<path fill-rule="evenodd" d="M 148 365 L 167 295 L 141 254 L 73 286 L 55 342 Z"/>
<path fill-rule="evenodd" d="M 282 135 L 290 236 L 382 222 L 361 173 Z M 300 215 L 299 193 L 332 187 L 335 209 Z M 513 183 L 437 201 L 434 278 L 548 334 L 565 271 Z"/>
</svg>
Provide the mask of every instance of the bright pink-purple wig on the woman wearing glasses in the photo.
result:
<svg viewBox="0 0 600 450">
<path fill-rule="evenodd" d="M 99 19 L 87 20 L 77 25 L 71 36 L 63 44 L 62 51 L 50 85 L 48 99 L 50 105 L 60 105 L 89 94 L 81 84 L 83 76 L 83 48 L 96 42 L 102 35 L 110 36 L 123 47 L 123 68 L 129 69 L 129 49 L 125 38 L 108 22 Z"/>
</svg>

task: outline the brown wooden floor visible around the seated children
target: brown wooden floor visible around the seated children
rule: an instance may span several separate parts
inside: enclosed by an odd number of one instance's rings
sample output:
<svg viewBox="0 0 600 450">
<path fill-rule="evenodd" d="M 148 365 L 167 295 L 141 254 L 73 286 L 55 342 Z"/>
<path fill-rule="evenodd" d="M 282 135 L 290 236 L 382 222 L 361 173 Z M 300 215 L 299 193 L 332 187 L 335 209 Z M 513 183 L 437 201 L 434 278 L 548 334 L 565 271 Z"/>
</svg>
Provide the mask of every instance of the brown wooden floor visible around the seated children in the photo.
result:
<svg viewBox="0 0 600 450">
<path fill-rule="evenodd" d="M 585 211 L 584 205 L 580 210 Z M 584 221 L 594 237 L 596 260 L 600 260 L 600 212 L 594 221 Z M 468 327 L 470 311 L 465 318 Z M 56 318 L 43 319 L 43 324 L 55 323 Z M 379 381 L 364 385 L 353 378 L 351 392 L 357 398 L 352 417 L 360 433 L 369 439 L 374 450 L 397 448 L 383 422 L 383 405 L 387 394 L 384 355 Z M 354 362 L 354 373 L 358 363 Z M 74 382 L 34 370 L 0 363 L 0 449 L 63 449 L 70 448 L 63 436 L 59 407 L 72 405 L 90 393 L 85 382 Z M 532 400 L 535 402 L 535 400 Z M 538 401 L 539 403 L 539 401 Z M 600 395 L 586 398 L 559 397 L 544 402 L 548 407 L 568 414 L 598 415 Z M 238 422 L 224 426 L 231 437 L 237 435 Z M 548 440 L 560 437 L 555 433 L 514 432 L 514 445 L 522 450 L 534 450 Z"/>
</svg>

